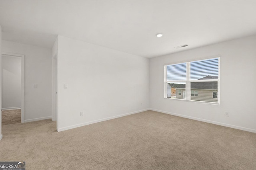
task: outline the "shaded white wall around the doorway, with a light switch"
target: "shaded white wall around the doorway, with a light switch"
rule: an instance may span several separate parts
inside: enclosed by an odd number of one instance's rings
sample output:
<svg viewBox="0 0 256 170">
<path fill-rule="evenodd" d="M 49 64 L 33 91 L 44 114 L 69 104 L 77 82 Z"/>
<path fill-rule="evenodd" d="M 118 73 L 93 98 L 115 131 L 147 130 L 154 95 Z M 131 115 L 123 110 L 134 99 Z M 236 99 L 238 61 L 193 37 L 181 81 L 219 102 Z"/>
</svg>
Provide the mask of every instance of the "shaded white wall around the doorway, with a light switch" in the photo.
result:
<svg viewBox="0 0 256 170">
<path fill-rule="evenodd" d="M 52 51 L 2 41 L 2 52 L 25 55 L 24 122 L 52 117 Z M 38 88 L 34 88 L 38 84 Z"/>
</svg>

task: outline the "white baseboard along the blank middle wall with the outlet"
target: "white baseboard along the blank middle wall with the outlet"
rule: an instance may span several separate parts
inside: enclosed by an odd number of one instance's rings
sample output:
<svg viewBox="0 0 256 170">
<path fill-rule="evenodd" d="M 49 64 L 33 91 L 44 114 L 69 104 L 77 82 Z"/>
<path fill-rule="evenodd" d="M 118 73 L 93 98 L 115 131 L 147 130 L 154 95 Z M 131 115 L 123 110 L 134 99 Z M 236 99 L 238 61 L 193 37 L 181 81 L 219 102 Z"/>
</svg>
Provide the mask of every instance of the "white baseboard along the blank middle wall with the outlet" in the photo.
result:
<svg viewBox="0 0 256 170">
<path fill-rule="evenodd" d="M 76 127 L 81 127 L 81 126 L 90 125 L 90 124 L 93 124 L 93 123 L 98 123 L 98 122 L 101 122 L 101 121 L 106 121 L 106 120 L 115 119 L 115 118 L 118 118 L 118 117 L 132 115 L 132 114 L 140 113 L 142 111 L 147 111 L 147 110 L 149 110 L 149 109 L 143 109 L 143 110 L 134 111 L 134 112 L 130 112 L 130 113 L 122 114 L 122 115 L 117 115 L 117 116 L 107 117 L 107 118 L 104 118 L 104 119 L 98 119 L 98 120 L 95 120 L 95 121 L 86 122 L 86 123 L 80 123 L 80 124 L 76 124 L 76 125 L 72 125 L 72 126 L 62 127 L 62 128 L 58 128 L 57 131 L 58 132 L 66 131 L 68 129 L 73 129 L 73 128 L 76 128 Z"/>
</svg>

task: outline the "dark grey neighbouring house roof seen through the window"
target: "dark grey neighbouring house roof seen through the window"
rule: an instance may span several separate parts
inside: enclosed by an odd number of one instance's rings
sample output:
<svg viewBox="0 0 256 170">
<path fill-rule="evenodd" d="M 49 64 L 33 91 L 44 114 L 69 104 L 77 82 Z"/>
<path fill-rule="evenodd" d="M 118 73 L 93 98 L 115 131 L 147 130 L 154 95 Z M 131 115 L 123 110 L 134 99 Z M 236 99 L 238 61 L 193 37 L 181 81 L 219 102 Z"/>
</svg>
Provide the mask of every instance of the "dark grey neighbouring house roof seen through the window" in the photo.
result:
<svg viewBox="0 0 256 170">
<path fill-rule="evenodd" d="M 218 79 L 218 76 L 205 76 L 198 80 L 206 80 L 206 79 Z M 168 83 L 169 86 L 174 88 L 186 88 L 185 84 L 178 84 L 178 83 Z M 191 82 L 191 89 L 210 89 L 210 90 L 217 90 L 218 89 L 218 82 Z"/>
</svg>

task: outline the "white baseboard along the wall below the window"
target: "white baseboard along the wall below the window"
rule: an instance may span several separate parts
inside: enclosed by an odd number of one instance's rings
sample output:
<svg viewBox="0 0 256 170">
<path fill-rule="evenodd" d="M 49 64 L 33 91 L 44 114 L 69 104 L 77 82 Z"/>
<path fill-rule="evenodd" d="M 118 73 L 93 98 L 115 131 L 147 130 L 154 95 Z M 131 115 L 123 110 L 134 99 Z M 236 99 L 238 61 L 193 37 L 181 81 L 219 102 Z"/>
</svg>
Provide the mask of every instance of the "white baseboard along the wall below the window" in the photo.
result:
<svg viewBox="0 0 256 170">
<path fill-rule="evenodd" d="M 177 114 L 177 113 L 171 113 L 171 112 L 168 112 L 168 111 L 162 111 L 162 110 L 158 110 L 158 109 L 152 109 L 152 108 L 150 108 L 150 110 L 152 110 L 152 111 L 158 111 L 158 112 L 161 112 L 161 113 L 166 113 L 166 114 L 169 114 L 169 115 L 184 117 L 184 118 L 188 118 L 188 119 L 193 119 L 193 120 L 197 120 L 197 121 L 203 121 L 203 122 L 206 122 L 206 123 L 212 123 L 212 124 L 215 124 L 215 125 L 220 125 L 220 126 L 225 126 L 225 127 L 231 127 L 231 128 L 234 128 L 234 129 L 239 129 L 239 130 L 243 130 L 243 131 L 248 131 L 248 132 L 256 133 L 256 129 L 250 129 L 250 128 L 247 128 L 247 127 L 240 127 L 240 126 L 236 126 L 236 125 L 230 125 L 230 124 L 226 124 L 226 123 L 220 123 L 220 122 L 217 122 L 217 121 L 211 121 L 211 120 L 207 120 L 207 119 L 201 119 L 201 118 L 197 118 L 197 117 L 192 117 L 192 116 L 187 116 L 187 115 L 181 115 L 181 114 Z"/>
</svg>

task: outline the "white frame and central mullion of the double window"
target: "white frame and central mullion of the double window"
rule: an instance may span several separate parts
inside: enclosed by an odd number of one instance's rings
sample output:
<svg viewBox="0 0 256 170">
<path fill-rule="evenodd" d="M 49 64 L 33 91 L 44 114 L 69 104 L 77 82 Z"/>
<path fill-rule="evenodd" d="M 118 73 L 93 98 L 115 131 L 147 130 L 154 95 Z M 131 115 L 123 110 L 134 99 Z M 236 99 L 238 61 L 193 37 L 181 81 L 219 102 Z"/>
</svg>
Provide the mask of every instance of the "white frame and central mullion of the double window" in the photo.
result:
<svg viewBox="0 0 256 170">
<path fill-rule="evenodd" d="M 202 59 L 196 59 L 196 60 L 190 60 L 190 61 L 180 61 L 177 63 L 170 63 L 170 64 L 165 64 L 164 65 L 164 99 L 171 99 L 171 100 L 182 100 L 182 101 L 187 101 L 187 102 L 197 102 L 197 103 L 204 103 L 204 104 L 213 104 L 213 105 L 220 105 L 220 55 L 218 56 L 212 56 L 212 57 L 207 57 L 207 58 L 202 58 Z M 191 62 L 194 61 L 204 61 L 208 59 L 218 59 L 218 79 L 204 79 L 204 80 L 190 80 L 190 64 Z M 166 67 L 168 65 L 172 64 L 182 64 L 186 63 L 186 80 L 171 80 L 167 81 L 167 72 L 166 72 Z M 174 82 L 184 82 L 186 84 L 186 98 L 185 99 L 177 99 L 177 98 L 167 98 L 166 94 L 166 84 L 167 83 L 174 83 Z M 205 101 L 195 101 L 191 100 L 191 82 L 217 82 L 218 83 L 218 89 L 217 89 L 217 100 L 218 102 L 205 102 Z M 189 93 L 190 92 L 190 93 Z M 199 92 L 199 91 L 198 91 Z M 216 91 L 214 91 L 216 92 Z M 198 95 L 198 94 L 197 94 Z M 198 97 L 198 96 L 192 96 L 192 97 Z"/>
</svg>

